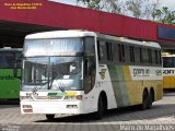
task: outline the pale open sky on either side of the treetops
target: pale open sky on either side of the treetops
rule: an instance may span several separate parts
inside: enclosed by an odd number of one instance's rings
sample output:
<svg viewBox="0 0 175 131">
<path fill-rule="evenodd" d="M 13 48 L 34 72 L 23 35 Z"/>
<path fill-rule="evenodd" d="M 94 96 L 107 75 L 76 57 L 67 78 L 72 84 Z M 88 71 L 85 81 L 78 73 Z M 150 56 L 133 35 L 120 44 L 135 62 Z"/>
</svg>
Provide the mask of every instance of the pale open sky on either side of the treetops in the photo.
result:
<svg viewBox="0 0 175 131">
<path fill-rule="evenodd" d="M 49 1 L 56 1 L 67 4 L 77 5 L 77 0 L 49 0 Z M 175 11 L 175 0 L 160 0 L 162 7 L 168 7 L 172 11 Z"/>
</svg>

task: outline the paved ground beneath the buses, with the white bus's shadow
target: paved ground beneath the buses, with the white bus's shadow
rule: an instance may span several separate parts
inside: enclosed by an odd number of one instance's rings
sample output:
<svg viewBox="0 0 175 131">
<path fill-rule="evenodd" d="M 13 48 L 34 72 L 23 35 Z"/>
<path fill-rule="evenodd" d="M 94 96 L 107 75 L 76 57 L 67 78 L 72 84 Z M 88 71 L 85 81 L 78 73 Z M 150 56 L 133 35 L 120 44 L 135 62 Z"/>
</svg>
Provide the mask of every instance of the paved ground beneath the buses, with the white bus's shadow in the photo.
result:
<svg viewBox="0 0 175 131">
<path fill-rule="evenodd" d="M 137 106 L 108 110 L 102 120 L 92 115 L 21 115 L 19 103 L 0 105 L 0 131 L 175 131 L 175 93 L 165 93 L 148 110 Z"/>
</svg>

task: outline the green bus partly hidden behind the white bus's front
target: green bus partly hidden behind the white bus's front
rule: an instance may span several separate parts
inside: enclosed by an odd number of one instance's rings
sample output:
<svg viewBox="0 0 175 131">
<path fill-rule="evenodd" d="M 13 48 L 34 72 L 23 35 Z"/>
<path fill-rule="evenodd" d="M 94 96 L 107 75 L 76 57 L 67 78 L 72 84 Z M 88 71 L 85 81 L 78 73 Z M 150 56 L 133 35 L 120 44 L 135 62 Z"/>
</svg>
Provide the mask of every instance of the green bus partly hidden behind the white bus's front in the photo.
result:
<svg viewBox="0 0 175 131">
<path fill-rule="evenodd" d="M 22 56 L 21 48 L 4 47 L 0 49 L 0 100 L 20 99 L 21 81 L 13 76 L 14 62 Z M 21 75 L 21 64 L 16 73 Z"/>
</svg>

